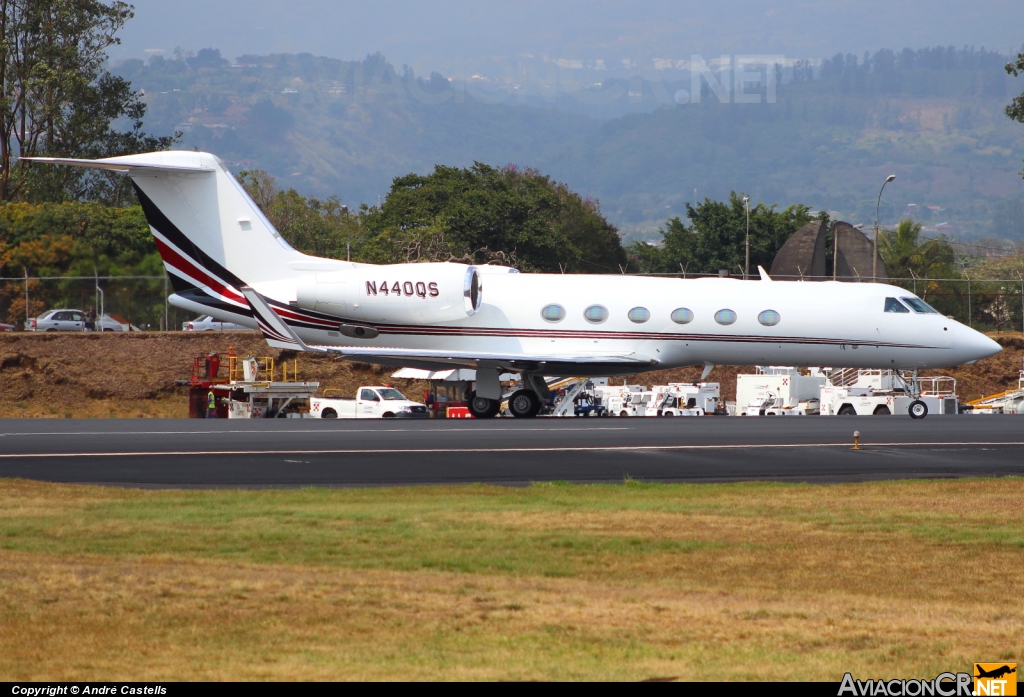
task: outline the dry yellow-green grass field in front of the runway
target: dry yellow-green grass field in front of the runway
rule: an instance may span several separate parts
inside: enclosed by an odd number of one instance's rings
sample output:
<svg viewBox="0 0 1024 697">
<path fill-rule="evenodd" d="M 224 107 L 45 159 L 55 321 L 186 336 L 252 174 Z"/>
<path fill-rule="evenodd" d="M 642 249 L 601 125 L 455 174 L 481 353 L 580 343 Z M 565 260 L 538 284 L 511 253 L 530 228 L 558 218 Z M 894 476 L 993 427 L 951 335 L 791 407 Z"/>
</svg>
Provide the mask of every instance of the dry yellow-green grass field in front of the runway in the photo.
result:
<svg viewBox="0 0 1024 697">
<path fill-rule="evenodd" d="M 0 680 L 932 678 L 1022 658 L 1022 499 L 0 480 Z"/>
</svg>

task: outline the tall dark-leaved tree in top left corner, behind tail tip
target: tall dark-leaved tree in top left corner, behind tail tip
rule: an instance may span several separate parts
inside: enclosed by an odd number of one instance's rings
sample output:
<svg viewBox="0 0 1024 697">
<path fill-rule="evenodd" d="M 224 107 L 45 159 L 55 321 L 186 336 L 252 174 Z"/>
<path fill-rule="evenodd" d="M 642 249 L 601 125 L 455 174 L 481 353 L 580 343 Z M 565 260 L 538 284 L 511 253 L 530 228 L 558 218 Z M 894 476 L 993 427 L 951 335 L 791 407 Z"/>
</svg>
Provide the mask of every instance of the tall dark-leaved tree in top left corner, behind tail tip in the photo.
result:
<svg viewBox="0 0 1024 697">
<path fill-rule="evenodd" d="M 145 135 L 145 104 L 103 69 L 105 50 L 132 17 L 117 0 L 0 0 L 0 201 L 130 200 L 124 177 L 15 158 L 98 158 L 166 149 Z M 127 131 L 112 123 L 127 119 Z"/>
</svg>

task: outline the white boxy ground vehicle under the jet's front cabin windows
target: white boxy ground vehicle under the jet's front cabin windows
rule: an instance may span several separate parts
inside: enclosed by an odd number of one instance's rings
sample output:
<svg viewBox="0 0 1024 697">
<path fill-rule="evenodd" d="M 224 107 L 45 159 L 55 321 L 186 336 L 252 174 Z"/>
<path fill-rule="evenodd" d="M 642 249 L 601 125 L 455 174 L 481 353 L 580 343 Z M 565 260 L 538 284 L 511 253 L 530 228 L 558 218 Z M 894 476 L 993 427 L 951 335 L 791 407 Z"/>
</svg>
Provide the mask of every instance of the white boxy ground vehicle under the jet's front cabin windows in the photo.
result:
<svg viewBox="0 0 1024 697">
<path fill-rule="evenodd" d="M 826 382 L 817 368 L 806 374 L 787 365 L 758 366 L 736 376 L 736 413 L 742 417 L 818 413 L 818 390 Z"/>
</svg>

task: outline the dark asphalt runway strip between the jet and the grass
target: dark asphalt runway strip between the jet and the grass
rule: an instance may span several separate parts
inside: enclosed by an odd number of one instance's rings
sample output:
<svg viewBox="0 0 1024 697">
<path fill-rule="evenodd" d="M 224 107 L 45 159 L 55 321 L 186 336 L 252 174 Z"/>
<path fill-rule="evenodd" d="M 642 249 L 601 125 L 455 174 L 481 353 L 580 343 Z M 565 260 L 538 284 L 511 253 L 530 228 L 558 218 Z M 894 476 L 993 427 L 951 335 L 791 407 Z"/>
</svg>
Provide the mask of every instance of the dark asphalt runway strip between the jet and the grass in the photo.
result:
<svg viewBox="0 0 1024 697">
<path fill-rule="evenodd" d="M 0 477 L 142 487 L 1008 475 L 1024 417 L 0 420 Z"/>
</svg>

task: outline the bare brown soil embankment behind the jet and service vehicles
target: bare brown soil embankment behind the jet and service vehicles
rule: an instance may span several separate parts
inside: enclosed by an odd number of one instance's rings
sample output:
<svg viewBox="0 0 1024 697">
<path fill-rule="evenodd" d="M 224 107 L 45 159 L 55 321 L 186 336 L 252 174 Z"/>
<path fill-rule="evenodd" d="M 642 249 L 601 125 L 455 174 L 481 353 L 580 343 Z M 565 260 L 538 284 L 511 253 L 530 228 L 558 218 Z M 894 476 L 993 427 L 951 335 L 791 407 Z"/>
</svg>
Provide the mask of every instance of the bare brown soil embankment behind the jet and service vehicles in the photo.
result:
<svg viewBox="0 0 1024 697">
<path fill-rule="evenodd" d="M 1004 352 L 974 365 L 935 371 L 956 379 L 968 400 L 1017 386 L 1024 335 L 993 335 Z M 239 355 L 298 358 L 303 380 L 354 393 L 359 385 L 388 383 L 421 398 L 426 384 L 390 378 L 393 372 L 327 356 L 271 349 L 255 333 L 0 334 L 0 418 L 174 418 L 188 411 L 186 389 L 174 381 L 187 378 L 196 356 L 233 348 Z M 283 356 L 283 353 L 285 354 Z M 751 366 L 719 365 L 709 380 L 722 384 L 733 399 L 736 374 Z M 691 382 L 700 367 L 645 373 L 630 383 L 655 385 Z M 617 380 L 617 379 L 616 379 Z"/>
</svg>

